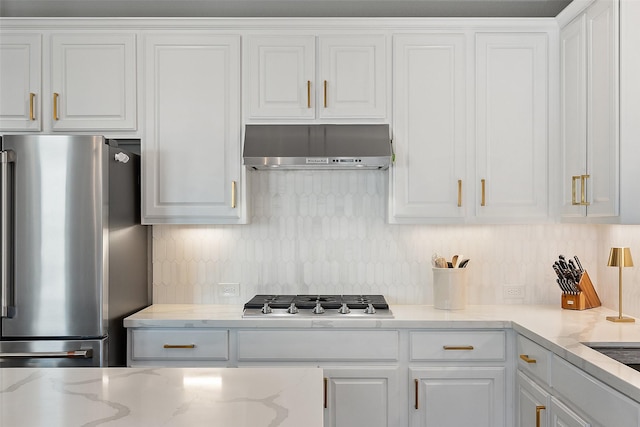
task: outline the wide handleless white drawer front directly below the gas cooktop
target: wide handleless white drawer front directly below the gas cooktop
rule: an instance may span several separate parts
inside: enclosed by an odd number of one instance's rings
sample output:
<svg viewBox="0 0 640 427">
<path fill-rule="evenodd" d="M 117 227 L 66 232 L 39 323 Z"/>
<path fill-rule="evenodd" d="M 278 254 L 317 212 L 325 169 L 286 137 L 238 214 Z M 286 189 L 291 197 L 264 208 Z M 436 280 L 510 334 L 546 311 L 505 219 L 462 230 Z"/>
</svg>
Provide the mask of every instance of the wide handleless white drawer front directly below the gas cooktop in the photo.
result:
<svg viewBox="0 0 640 427">
<path fill-rule="evenodd" d="M 239 361 L 398 360 L 398 331 L 238 331 Z"/>
</svg>

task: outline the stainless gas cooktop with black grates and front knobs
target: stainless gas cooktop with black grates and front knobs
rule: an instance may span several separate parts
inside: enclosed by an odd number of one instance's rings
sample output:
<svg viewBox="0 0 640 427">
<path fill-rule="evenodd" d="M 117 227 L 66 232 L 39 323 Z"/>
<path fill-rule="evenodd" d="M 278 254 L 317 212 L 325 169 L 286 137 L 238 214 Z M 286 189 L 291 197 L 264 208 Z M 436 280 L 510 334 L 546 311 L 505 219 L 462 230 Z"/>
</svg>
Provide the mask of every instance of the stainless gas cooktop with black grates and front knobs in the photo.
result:
<svg viewBox="0 0 640 427">
<path fill-rule="evenodd" d="M 243 317 L 393 317 L 382 295 L 256 295 Z"/>
</svg>

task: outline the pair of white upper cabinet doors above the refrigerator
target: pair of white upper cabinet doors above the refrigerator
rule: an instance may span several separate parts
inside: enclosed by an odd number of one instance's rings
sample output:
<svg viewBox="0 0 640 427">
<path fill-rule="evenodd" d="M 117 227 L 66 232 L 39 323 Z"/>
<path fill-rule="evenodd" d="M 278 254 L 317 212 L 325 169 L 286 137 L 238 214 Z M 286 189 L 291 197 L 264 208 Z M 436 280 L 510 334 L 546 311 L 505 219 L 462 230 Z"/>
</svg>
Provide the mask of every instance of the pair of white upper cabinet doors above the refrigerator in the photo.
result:
<svg viewBox="0 0 640 427">
<path fill-rule="evenodd" d="M 3 33 L 0 67 L 0 131 L 136 130 L 133 33 Z"/>
</svg>

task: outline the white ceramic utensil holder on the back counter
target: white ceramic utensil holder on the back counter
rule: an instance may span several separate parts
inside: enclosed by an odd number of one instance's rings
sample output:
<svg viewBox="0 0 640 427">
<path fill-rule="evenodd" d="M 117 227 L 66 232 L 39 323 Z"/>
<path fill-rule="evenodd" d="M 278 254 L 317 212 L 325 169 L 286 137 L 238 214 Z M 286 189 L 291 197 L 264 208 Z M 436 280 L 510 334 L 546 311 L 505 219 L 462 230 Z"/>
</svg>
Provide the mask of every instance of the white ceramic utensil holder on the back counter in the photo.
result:
<svg viewBox="0 0 640 427">
<path fill-rule="evenodd" d="M 461 310 L 467 305 L 467 269 L 433 268 L 433 306 Z"/>
</svg>

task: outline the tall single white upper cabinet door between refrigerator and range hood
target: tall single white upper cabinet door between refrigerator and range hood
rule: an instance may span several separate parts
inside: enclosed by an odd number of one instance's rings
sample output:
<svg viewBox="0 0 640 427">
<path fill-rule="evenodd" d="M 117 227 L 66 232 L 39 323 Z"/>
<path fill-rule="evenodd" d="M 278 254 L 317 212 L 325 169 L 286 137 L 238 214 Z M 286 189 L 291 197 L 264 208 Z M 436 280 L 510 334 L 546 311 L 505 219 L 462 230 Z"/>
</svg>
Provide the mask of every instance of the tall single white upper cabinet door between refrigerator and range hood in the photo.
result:
<svg viewBox="0 0 640 427">
<path fill-rule="evenodd" d="M 239 223 L 240 37 L 145 40 L 143 221 Z"/>
</svg>

